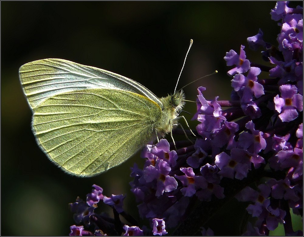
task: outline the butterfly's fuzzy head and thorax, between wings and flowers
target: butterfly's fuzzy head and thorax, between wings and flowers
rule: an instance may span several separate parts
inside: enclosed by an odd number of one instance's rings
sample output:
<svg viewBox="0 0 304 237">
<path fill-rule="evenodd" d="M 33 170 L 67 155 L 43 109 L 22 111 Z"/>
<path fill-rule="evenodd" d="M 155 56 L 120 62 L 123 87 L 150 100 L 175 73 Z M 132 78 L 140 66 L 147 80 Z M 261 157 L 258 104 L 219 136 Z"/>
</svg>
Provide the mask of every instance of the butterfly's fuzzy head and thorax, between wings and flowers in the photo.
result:
<svg viewBox="0 0 304 237">
<path fill-rule="evenodd" d="M 185 105 L 185 94 L 183 91 L 180 91 L 175 94 L 162 97 L 160 98 L 160 101 L 163 105 L 162 115 L 161 119 L 159 119 L 155 124 L 155 129 L 160 136 L 164 136 L 171 132 L 171 128 L 174 129 L 175 125 L 178 123 L 178 121 L 174 119 Z"/>
</svg>

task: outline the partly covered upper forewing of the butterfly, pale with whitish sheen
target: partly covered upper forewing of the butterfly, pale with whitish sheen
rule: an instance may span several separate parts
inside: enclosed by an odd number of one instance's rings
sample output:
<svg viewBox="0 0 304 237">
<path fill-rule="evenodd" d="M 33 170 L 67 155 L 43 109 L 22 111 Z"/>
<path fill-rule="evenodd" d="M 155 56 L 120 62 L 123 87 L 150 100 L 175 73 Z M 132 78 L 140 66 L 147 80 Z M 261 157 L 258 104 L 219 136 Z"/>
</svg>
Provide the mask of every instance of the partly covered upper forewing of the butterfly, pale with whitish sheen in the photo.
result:
<svg viewBox="0 0 304 237">
<path fill-rule="evenodd" d="M 56 94 L 98 88 L 134 92 L 161 106 L 157 96 L 136 81 L 97 67 L 64 59 L 50 58 L 24 64 L 19 69 L 19 77 L 32 109 Z"/>
</svg>

